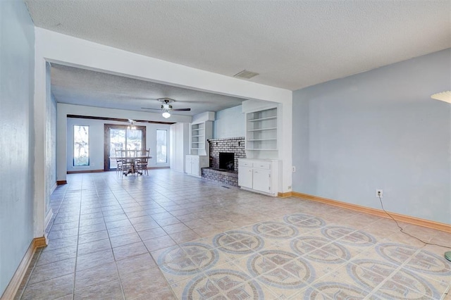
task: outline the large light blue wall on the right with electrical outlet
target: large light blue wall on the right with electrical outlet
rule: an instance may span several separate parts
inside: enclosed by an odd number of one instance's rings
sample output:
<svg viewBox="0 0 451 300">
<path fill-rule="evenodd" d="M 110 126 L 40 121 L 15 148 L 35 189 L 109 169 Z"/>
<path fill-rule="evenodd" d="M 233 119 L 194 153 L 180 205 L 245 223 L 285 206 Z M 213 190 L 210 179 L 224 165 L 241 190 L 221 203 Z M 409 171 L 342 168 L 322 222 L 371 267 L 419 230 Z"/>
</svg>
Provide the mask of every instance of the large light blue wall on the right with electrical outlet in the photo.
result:
<svg viewBox="0 0 451 300">
<path fill-rule="evenodd" d="M 451 50 L 293 94 L 295 192 L 451 223 Z"/>
</svg>

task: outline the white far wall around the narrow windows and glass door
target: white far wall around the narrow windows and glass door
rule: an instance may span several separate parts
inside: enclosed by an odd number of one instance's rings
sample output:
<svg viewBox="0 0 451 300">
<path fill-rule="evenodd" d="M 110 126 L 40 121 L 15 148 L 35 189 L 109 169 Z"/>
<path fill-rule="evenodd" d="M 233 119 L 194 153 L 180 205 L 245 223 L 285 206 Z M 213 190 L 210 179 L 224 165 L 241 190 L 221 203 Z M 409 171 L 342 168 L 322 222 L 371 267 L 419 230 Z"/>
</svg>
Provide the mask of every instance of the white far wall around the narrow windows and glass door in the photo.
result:
<svg viewBox="0 0 451 300">
<path fill-rule="evenodd" d="M 105 124 L 120 124 L 129 125 L 125 122 L 116 122 L 109 120 L 91 120 L 85 118 L 67 118 L 67 158 L 66 168 L 68 171 L 80 170 L 104 170 L 104 125 Z M 73 125 L 88 125 L 89 126 L 89 166 L 73 166 Z M 168 163 L 156 163 L 156 130 L 162 129 L 168 131 L 169 142 L 169 125 L 164 124 L 150 124 L 150 123 L 136 123 L 137 126 L 146 127 L 146 149 L 150 148 L 150 155 L 153 156 L 149 160 L 148 167 L 166 167 Z"/>
</svg>

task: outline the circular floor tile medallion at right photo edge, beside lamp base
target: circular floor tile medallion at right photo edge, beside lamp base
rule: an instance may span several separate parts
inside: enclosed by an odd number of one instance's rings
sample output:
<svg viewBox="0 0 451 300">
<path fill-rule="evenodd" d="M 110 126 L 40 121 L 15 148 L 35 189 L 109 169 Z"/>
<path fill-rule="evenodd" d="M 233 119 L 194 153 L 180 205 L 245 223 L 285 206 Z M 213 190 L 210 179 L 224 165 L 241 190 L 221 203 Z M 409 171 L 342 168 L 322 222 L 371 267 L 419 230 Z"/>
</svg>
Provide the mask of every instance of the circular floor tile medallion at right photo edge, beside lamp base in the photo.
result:
<svg viewBox="0 0 451 300">
<path fill-rule="evenodd" d="M 404 268 L 433 275 L 451 275 L 450 263 L 445 258 L 425 250 L 404 244 L 378 244 L 376 251 L 386 260 L 400 265 L 407 261 Z"/>
</svg>

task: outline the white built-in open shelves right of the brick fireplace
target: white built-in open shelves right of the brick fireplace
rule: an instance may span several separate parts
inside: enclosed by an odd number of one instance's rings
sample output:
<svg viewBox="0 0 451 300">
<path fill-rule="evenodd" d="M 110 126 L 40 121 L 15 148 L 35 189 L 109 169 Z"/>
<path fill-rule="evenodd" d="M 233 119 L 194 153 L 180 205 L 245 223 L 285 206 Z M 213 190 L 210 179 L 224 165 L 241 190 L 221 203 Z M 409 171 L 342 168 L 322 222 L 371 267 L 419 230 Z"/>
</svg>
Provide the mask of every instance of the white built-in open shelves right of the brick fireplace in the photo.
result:
<svg viewBox="0 0 451 300">
<path fill-rule="evenodd" d="M 246 150 L 277 151 L 277 108 L 246 113 Z"/>
</svg>

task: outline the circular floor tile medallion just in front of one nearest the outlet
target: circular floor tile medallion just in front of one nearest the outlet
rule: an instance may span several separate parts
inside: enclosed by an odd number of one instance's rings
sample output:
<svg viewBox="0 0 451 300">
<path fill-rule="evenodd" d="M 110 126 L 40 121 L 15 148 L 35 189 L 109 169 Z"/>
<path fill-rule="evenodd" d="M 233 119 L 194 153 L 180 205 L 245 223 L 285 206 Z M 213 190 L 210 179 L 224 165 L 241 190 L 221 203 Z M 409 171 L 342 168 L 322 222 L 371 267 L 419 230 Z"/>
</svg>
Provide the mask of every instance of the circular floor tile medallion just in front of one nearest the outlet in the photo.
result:
<svg viewBox="0 0 451 300">
<path fill-rule="evenodd" d="M 297 237 L 290 246 L 296 253 L 305 254 L 304 258 L 321 263 L 342 263 L 351 258 L 344 246 L 323 237 Z"/>
</svg>

